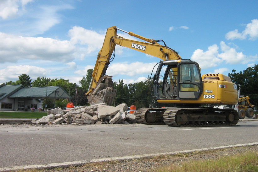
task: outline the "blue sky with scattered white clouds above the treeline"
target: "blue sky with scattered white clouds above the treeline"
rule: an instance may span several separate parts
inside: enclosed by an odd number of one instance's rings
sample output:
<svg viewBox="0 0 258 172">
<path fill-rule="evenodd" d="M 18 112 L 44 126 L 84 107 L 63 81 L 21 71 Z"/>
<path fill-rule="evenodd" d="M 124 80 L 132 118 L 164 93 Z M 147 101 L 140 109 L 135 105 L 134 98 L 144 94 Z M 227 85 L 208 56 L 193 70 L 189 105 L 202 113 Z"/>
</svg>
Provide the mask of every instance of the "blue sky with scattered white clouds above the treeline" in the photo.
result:
<svg viewBox="0 0 258 172">
<path fill-rule="evenodd" d="M 182 59 L 198 62 L 201 74 L 240 72 L 258 63 L 257 7 L 257 0 L 0 0 L 0 83 L 26 73 L 79 84 L 114 25 L 164 40 Z M 116 46 L 107 75 L 144 81 L 159 61 Z"/>
</svg>

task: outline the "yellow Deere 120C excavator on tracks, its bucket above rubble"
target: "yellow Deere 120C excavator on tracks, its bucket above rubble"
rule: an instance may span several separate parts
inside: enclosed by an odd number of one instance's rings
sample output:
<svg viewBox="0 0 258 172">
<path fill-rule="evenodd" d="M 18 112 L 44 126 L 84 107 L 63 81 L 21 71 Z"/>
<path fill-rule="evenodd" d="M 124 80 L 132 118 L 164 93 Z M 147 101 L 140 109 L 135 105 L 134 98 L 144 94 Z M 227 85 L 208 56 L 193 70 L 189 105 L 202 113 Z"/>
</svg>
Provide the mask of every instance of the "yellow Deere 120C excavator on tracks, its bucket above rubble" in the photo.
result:
<svg viewBox="0 0 258 172">
<path fill-rule="evenodd" d="M 117 30 L 145 42 L 125 39 Z M 164 45 L 160 45 L 161 42 Z M 92 80 L 85 94 L 90 105 L 106 102 L 112 105 L 116 90 L 106 75 L 108 65 L 115 57 L 115 46 L 123 46 L 160 58 L 153 76 L 154 97 L 158 103 L 173 105 L 164 108 L 140 108 L 136 119 L 142 124 L 165 123 L 169 126 L 234 126 L 238 112 L 217 109 L 212 105 L 235 105 L 238 102 L 237 85 L 222 74 L 201 76 L 199 64 L 183 60 L 177 51 L 166 46 L 163 40 L 142 37 L 116 26 L 107 29 L 103 46 L 98 53 Z M 114 52 L 114 53 L 113 53 Z M 164 73 L 165 71 L 165 73 Z M 206 105 L 206 106 L 203 106 Z"/>
</svg>

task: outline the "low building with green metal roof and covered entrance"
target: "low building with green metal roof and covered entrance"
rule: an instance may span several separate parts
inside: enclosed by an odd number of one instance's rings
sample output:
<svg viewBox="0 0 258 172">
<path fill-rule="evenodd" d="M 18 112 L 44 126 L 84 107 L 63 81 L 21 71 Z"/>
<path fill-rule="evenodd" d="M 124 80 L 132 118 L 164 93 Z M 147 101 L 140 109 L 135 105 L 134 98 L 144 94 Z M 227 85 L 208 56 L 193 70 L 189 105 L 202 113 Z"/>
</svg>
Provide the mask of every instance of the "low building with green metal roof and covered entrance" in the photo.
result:
<svg viewBox="0 0 258 172">
<path fill-rule="evenodd" d="M 72 98 L 61 86 L 30 87 L 22 85 L 0 85 L 0 110 L 28 111 L 42 107 L 42 99 Z"/>
</svg>

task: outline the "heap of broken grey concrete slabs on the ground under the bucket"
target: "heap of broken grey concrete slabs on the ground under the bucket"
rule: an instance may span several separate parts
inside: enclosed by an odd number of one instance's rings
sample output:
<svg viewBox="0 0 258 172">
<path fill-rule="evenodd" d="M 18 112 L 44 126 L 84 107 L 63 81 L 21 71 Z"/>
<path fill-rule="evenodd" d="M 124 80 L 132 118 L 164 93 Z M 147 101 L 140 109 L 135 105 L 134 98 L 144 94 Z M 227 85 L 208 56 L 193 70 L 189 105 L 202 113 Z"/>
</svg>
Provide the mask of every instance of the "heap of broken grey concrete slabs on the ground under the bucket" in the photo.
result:
<svg viewBox="0 0 258 172">
<path fill-rule="evenodd" d="M 91 106 L 81 106 L 71 110 L 55 108 L 48 110 L 48 116 L 36 120 L 36 124 L 132 124 L 136 123 L 134 114 L 126 112 L 128 109 L 125 103 L 114 106 L 107 106 L 100 103 Z"/>
</svg>

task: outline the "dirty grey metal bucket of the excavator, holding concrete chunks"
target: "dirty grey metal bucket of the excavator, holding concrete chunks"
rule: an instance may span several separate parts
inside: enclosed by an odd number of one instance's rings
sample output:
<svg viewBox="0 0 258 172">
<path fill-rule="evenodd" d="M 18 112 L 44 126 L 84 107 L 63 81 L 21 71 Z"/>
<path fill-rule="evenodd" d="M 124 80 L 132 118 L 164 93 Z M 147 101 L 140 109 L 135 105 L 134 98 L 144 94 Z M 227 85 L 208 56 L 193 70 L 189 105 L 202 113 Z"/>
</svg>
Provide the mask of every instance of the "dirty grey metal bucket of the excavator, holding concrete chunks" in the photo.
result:
<svg viewBox="0 0 258 172">
<path fill-rule="evenodd" d="M 101 90 L 96 95 L 90 95 L 87 97 L 89 100 L 90 105 L 95 105 L 99 103 L 106 103 L 107 105 L 111 106 L 115 99 L 116 90 L 110 87 Z"/>
</svg>

